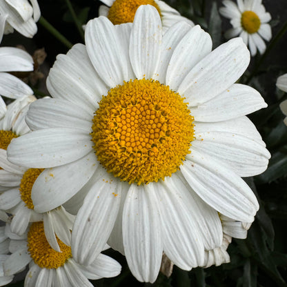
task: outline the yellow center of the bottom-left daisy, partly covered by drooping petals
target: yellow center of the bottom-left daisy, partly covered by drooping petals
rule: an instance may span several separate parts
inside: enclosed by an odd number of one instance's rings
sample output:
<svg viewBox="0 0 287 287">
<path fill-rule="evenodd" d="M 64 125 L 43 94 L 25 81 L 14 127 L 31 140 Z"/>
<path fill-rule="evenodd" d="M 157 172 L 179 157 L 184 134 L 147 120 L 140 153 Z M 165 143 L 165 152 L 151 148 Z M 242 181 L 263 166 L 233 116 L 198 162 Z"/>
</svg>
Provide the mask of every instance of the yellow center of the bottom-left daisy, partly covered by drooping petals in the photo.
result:
<svg viewBox="0 0 287 287">
<path fill-rule="evenodd" d="M 70 246 L 57 238 L 61 252 L 54 250 L 48 243 L 43 222 L 33 222 L 28 232 L 28 252 L 34 263 L 41 268 L 59 268 L 72 257 Z"/>
</svg>

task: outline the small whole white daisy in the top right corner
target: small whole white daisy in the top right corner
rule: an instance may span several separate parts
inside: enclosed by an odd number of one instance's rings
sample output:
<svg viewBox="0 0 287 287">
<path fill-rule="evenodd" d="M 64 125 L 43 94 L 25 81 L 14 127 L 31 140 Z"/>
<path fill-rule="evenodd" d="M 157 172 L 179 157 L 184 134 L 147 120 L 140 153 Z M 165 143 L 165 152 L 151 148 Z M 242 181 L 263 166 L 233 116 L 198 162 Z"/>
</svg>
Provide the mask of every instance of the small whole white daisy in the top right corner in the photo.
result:
<svg viewBox="0 0 287 287">
<path fill-rule="evenodd" d="M 226 31 L 226 38 L 241 37 L 248 45 L 251 56 L 255 56 L 257 50 L 263 54 L 266 50 L 264 40 L 270 41 L 272 37 L 270 13 L 266 12 L 261 0 L 237 0 L 237 5 L 230 0 L 223 1 L 225 7 L 219 8 L 219 12 L 230 19 L 232 28 Z"/>
</svg>

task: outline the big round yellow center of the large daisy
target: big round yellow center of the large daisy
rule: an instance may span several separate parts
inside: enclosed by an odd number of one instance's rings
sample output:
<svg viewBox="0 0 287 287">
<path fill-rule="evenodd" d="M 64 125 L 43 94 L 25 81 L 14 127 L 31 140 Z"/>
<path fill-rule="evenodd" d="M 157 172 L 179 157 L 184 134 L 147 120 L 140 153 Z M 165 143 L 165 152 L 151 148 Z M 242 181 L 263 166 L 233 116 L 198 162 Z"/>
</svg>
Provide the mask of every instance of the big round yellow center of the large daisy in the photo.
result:
<svg viewBox="0 0 287 287">
<path fill-rule="evenodd" d="M 194 139 L 184 98 L 154 80 L 130 80 L 110 89 L 92 121 L 97 159 L 130 184 L 172 175 Z"/>
</svg>

